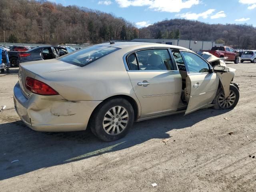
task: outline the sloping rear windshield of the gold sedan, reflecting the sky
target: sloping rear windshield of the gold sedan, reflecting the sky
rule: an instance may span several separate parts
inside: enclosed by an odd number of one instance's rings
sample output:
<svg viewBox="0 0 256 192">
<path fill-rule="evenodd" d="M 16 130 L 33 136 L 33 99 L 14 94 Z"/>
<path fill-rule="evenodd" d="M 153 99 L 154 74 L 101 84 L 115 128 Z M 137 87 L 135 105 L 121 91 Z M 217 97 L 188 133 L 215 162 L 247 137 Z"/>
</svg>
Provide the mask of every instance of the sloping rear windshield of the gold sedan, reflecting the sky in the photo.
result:
<svg viewBox="0 0 256 192">
<path fill-rule="evenodd" d="M 58 58 L 58 60 L 83 67 L 119 49 L 116 47 L 95 45 L 64 55 Z"/>
</svg>

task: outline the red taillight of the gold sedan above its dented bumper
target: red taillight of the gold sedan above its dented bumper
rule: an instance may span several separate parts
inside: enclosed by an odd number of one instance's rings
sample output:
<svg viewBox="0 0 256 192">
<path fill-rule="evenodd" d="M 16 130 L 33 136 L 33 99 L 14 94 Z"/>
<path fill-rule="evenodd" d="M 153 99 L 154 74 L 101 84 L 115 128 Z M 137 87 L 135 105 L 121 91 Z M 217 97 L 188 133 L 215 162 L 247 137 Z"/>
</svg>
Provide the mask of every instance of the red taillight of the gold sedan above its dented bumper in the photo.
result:
<svg viewBox="0 0 256 192">
<path fill-rule="evenodd" d="M 39 95 L 58 95 L 53 88 L 34 78 L 27 77 L 25 86 L 28 90 Z"/>
</svg>

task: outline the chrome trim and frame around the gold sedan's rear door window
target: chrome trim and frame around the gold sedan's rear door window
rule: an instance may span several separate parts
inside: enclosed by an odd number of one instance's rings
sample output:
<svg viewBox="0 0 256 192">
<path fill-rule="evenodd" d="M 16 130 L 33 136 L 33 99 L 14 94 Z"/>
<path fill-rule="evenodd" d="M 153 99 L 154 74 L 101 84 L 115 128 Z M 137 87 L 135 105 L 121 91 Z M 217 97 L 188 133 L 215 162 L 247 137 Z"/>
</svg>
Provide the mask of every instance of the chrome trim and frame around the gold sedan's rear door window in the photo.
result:
<svg viewBox="0 0 256 192">
<path fill-rule="evenodd" d="M 124 62 L 124 67 L 126 68 L 126 71 L 132 71 L 129 69 L 128 67 L 128 64 L 127 64 L 127 61 L 126 61 L 126 57 L 132 53 L 135 53 L 135 52 L 139 52 L 139 51 L 144 51 L 144 50 L 150 50 L 150 49 L 165 49 L 165 50 L 168 50 L 169 54 L 170 54 L 170 49 L 174 49 L 174 48 L 170 48 L 170 47 L 147 47 L 147 48 L 139 48 L 139 49 L 134 49 L 126 54 L 124 54 L 123 56 L 123 62 Z M 182 51 L 179 50 L 179 51 Z M 189 52 L 189 51 L 188 51 Z M 171 57 L 171 60 L 172 60 L 172 54 L 170 54 L 170 57 Z M 172 60 L 172 63 L 173 63 L 173 60 Z M 176 63 L 176 62 L 175 62 Z M 173 63 L 174 64 L 174 63 Z M 158 71 L 178 71 L 178 66 L 176 64 L 176 67 L 177 67 L 177 70 L 158 70 Z M 133 70 L 133 71 L 137 71 L 137 70 Z M 138 70 L 138 71 L 144 71 L 144 70 Z M 149 71 L 157 71 L 157 70 L 145 70 L 146 72 L 149 72 Z"/>
</svg>

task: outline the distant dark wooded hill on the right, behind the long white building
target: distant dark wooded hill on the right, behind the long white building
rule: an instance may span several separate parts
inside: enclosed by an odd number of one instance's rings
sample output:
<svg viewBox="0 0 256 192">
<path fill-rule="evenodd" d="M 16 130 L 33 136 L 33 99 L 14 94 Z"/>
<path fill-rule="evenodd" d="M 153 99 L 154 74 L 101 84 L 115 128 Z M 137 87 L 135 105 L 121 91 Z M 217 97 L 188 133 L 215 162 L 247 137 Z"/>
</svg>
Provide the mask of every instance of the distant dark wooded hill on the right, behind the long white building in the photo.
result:
<svg viewBox="0 0 256 192">
<path fill-rule="evenodd" d="M 206 24 L 199 21 L 172 19 L 140 29 L 140 38 L 180 38 L 215 40 L 239 48 L 256 49 L 256 28 L 241 24 Z"/>
</svg>

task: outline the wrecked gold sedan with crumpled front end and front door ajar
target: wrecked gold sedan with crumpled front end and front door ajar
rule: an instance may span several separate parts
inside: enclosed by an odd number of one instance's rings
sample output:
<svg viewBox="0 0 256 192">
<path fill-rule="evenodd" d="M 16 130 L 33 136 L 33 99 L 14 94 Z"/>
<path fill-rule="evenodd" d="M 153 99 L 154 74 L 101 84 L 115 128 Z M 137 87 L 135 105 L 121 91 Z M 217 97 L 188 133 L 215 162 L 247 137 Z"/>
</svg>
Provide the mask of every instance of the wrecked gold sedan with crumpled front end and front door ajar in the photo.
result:
<svg viewBox="0 0 256 192">
<path fill-rule="evenodd" d="M 98 44 L 52 60 L 20 64 L 14 106 L 36 131 L 90 127 L 122 138 L 133 122 L 239 100 L 235 69 L 212 66 L 183 47 L 139 42 Z"/>
</svg>

